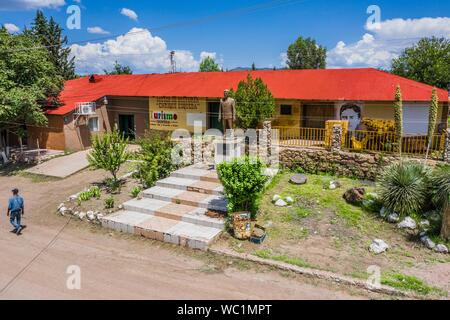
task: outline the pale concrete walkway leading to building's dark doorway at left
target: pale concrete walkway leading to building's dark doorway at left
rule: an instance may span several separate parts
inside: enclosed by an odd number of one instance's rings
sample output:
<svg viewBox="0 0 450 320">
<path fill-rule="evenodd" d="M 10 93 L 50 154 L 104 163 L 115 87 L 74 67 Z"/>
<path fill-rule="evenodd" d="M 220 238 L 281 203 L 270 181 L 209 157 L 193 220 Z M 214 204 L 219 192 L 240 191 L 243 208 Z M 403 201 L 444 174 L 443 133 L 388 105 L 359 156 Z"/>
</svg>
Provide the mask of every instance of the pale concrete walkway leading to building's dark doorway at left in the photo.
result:
<svg viewBox="0 0 450 320">
<path fill-rule="evenodd" d="M 89 150 L 84 150 L 54 158 L 27 169 L 26 172 L 49 177 L 67 178 L 89 166 L 87 160 L 88 153 Z"/>
</svg>

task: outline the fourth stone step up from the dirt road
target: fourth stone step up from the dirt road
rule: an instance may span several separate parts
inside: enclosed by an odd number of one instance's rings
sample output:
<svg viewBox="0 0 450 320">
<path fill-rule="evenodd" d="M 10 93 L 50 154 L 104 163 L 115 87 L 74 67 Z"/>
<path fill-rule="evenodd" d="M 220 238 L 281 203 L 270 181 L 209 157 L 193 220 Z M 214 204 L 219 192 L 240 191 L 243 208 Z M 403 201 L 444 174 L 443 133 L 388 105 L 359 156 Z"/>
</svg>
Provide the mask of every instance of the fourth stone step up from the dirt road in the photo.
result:
<svg viewBox="0 0 450 320">
<path fill-rule="evenodd" d="M 218 182 L 172 176 L 159 180 L 156 186 L 215 195 L 221 195 L 223 193 L 223 187 Z"/>
</svg>

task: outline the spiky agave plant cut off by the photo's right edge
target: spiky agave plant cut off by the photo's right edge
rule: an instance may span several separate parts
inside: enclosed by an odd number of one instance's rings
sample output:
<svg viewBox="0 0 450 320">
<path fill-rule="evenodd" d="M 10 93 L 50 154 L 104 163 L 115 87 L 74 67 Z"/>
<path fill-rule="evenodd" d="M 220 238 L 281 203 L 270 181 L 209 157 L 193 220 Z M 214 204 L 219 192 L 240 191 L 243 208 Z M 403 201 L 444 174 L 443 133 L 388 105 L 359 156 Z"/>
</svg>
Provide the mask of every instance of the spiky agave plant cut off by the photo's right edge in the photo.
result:
<svg viewBox="0 0 450 320">
<path fill-rule="evenodd" d="M 442 210 L 450 204 L 450 165 L 440 166 L 430 178 L 433 204 Z"/>
</svg>

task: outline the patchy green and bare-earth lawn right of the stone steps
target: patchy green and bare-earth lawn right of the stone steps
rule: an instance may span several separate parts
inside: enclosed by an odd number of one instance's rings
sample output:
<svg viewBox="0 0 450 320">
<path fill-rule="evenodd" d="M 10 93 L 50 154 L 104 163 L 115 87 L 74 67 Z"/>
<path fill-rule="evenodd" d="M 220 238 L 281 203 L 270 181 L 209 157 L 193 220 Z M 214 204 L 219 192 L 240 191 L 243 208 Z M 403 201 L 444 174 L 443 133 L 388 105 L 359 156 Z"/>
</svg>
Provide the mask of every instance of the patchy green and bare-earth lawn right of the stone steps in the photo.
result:
<svg viewBox="0 0 450 320">
<path fill-rule="evenodd" d="M 382 283 L 420 294 L 443 294 L 450 289 L 448 272 L 433 271 L 434 268 L 450 268 L 450 255 L 424 248 L 413 236 L 398 231 L 395 225 L 346 203 L 342 198 L 351 187 L 364 187 L 366 192 L 374 192 L 374 183 L 307 175 L 307 184 L 293 185 L 289 183 L 292 174 L 282 172 L 276 176 L 263 196 L 258 216 L 258 223 L 267 227 L 268 237 L 263 244 L 238 241 L 225 235 L 217 245 L 265 259 L 358 278 L 367 278 L 367 268 L 376 265 L 381 268 Z M 332 180 L 339 181 L 341 187 L 330 190 L 328 186 Z M 292 197 L 294 204 L 274 206 L 272 198 L 275 194 Z M 389 244 L 387 252 L 374 255 L 368 251 L 376 238 Z M 422 279 L 424 270 L 429 279 Z M 416 274 L 422 278 L 415 277 Z"/>
</svg>

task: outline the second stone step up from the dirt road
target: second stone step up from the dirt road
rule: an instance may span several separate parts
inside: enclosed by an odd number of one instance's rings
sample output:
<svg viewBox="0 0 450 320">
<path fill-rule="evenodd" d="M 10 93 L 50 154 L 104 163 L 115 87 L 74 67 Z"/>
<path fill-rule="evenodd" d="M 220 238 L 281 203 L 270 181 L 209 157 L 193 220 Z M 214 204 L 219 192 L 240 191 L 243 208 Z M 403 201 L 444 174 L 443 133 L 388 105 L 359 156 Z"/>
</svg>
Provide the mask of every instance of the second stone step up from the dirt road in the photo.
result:
<svg viewBox="0 0 450 320">
<path fill-rule="evenodd" d="M 132 199 L 125 202 L 123 208 L 128 211 L 189 222 L 199 226 L 223 229 L 225 225 L 223 219 L 208 217 L 207 209 L 153 198 Z"/>
</svg>

